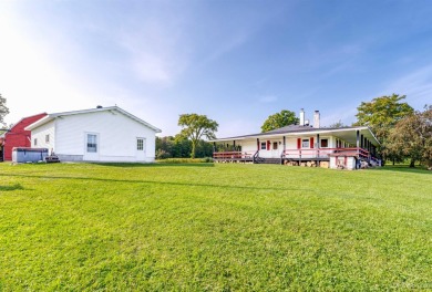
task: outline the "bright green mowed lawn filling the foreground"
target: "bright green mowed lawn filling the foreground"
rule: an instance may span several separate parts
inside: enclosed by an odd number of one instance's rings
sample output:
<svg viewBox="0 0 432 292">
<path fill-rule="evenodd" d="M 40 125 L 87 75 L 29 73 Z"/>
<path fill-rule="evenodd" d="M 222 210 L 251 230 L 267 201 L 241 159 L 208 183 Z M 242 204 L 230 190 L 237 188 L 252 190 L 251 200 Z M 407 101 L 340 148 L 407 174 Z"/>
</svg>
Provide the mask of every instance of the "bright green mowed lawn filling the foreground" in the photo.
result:
<svg viewBox="0 0 432 292">
<path fill-rule="evenodd" d="M 0 164 L 0 291 L 432 289 L 432 175 Z"/>
</svg>

